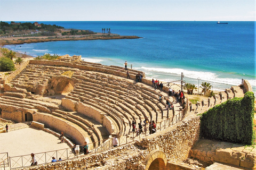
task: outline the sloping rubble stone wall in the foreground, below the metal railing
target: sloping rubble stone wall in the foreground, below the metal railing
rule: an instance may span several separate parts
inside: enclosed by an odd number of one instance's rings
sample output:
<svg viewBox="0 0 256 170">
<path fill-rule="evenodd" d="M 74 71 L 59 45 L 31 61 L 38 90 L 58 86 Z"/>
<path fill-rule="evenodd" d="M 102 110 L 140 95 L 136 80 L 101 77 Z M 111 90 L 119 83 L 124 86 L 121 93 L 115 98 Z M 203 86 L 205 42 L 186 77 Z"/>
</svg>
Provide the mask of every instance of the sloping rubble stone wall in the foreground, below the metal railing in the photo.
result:
<svg viewBox="0 0 256 170">
<path fill-rule="evenodd" d="M 198 139 L 199 117 L 177 123 L 159 133 L 154 133 L 140 141 L 116 147 L 100 154 L 86 155 L 74 160 L 49 163 L 22 169 L 146 169 L 147 156 L 153 150 L 164 152 L 167 160 L 172 160 L 169 169 L 187 159 L 190 148 Z M 156 158 L 154 158 L 156 159 Z M 195 169 L 195 166 L 176 165 L 176 169 Z"/>
</svg>

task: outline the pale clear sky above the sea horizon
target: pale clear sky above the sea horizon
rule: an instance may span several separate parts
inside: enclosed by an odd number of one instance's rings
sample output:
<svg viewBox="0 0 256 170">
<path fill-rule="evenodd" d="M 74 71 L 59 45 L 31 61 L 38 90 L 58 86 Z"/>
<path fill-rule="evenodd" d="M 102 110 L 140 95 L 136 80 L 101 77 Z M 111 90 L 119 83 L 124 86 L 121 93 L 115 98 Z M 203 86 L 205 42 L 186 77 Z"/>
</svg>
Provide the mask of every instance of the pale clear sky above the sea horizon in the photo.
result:
<svg viewBox="0 0 256 170">
<path fill-rule="evenodd" d="M 1 21 L 255 21 L 255 0 L 0 0 Z"/>
</svg>

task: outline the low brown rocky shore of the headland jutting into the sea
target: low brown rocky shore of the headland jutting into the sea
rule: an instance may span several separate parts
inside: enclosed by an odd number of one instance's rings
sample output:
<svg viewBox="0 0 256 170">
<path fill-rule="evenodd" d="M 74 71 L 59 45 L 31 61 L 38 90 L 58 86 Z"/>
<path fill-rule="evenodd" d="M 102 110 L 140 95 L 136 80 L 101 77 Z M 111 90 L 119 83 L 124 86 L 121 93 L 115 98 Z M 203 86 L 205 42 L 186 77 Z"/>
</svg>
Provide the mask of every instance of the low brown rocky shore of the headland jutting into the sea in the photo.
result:
<svg viewBox="0 0 256 170">
<path fill-rule="evenodd" d="M 117 34 L 97 33 L 94 35 L 75 36 L 42 36 L 42 37 L 1 37 L 1 45 L 43 43 L 49 41 L 76 41 L 76 40 L 109 40 L 109 39 L 138 39 L 138 36 L 120 36 Z"/>
</svg>

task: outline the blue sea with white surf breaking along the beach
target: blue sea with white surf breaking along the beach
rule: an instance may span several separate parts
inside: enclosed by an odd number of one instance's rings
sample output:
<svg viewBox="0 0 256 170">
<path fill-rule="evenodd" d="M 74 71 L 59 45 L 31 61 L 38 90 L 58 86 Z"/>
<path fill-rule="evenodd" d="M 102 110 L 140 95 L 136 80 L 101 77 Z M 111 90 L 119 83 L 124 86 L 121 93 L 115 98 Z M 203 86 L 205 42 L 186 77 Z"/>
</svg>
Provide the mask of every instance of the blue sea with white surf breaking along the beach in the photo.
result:
<svg viewBox="0 0 256 170">
<path fill-rule="evenodd" d="M 39 22 L 41 23 L 41 22 Z M 230 21 L 49 21 L 65 28 L 139 36 L 140 39 L 55 41 L 5 47 L 37 56 L 82 55 L 84 61 L 128 66 L 147 78 L 196 86 L 210 82 L 223 90 L 249 80 L 256 91 L 255 22 Z M 199 79 L 199 80 L 198 80 Z"/>
</svg>

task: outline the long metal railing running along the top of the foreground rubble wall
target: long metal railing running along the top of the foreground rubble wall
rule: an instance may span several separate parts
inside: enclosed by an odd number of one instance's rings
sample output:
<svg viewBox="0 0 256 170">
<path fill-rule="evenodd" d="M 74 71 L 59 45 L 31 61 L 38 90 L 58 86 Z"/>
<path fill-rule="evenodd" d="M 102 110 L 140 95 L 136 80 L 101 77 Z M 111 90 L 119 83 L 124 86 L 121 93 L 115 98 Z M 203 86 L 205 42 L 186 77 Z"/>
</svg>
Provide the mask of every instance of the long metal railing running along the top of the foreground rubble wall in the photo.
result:
<svg viewBox="0 0 256 170">
<path fill-rule="evenodd" d="M 102 104 L 102 106 L 103 105 L 105 105 L 105 104 Z M 188 109 L 188 104 L 186 104 L 185 108 L 182 109 L 182 111 L 180 111 L 178 114 L 174 115 L 173 117 L 167 118 L 166 120 L 158 122 L 156 124 L 155 132 L 162 131 L 162 130 L 174 125 L 175 123 L 182 121 L 187 113 L 187 109 Z M 133 142 L 135 139 L 141 139 L 143 137 L 150 135 L 151 133 L 153 133 L 153 131 L 150 131 L 150 129 L 153 126 L 154 125 L 147 126 L 147 124 L 146 124 L 142 128 L 143 132 L 134 131 L 134 132 L 129 132 L 124 135 L 118 135 L 116 137 L 117 141 L 118 141 L 117 146 L 126 145 L 128 143 Z M 102 142 L 102 144 L 99 147 L 96 147 L 96 146 L 98 146 L 96 143 L 99 143 L 99 142 Z M 106 151 L 106 150 L 114 148 L 113 138 L 88 143 L 87 145 L 88 145 L 89 154 L 97 154 L 102 151 Z M 79 146 L 79 152 L 77 154 L 75 153 L 74 149 L 75 148 L 67 148 L 67 149 L 54 150 L 54 151 L 48 151 L 48 152 L 41 152 L 41 153 L 35 154 L 35 158 L 36 158 L 38 165 L 40 165 L 40 164 L 51 163 L 52 157 L 55 157 L 57 159 L 59 157 L 61 157 L 62 160 L 67 160 L 67 159 L 78 158 L 78 157 L 81 157 L 82 155 L 85 155 L 83 152 L 83 145 Z M 11 169 L 30 166 L 31 165 L 30 161 L 31 161 L 30 155 L 9 157 L 9 163 L 10 163 Z"/>
</svg>

